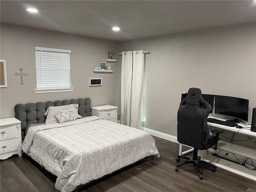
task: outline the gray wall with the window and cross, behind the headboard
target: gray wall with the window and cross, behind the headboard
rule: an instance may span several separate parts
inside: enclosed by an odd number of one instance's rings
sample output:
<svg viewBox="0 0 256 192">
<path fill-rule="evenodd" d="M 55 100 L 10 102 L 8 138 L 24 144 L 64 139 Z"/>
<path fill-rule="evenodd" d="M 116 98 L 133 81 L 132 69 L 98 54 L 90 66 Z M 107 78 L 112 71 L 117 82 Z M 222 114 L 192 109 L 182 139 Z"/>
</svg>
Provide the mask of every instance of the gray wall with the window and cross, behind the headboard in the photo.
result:
<svg viewBox="0 0 256 192">
<path fill-rule="evenodd" d="M 92 99 L 92 106 L 110 104 L 120 108 L 121 58 L 120 43 L 98 38 L 76 36 L 49 30 L 1 24 L 0 58 L 6 60 L 7 88 L 0 89 L 0 118 L 14 116 L 18 103 L 54 101 L 72 98 Z M 35 94 L 35 46 L 70 49 L 70 74 L 74 92 Z M 112 74 L 94 74 L 92 68 L 108 58 L 108 51 L 115 52 L 116 63 L 111 63 Z M 27 72 L 24 85 L 16 72 Z M 89 87 L 89 78 L 103 78 L 102 87 Z M 120 116 L 118 114 L 118 116 Z M 119 117 L 118 117 L 119 119 Z"/>
</svg>

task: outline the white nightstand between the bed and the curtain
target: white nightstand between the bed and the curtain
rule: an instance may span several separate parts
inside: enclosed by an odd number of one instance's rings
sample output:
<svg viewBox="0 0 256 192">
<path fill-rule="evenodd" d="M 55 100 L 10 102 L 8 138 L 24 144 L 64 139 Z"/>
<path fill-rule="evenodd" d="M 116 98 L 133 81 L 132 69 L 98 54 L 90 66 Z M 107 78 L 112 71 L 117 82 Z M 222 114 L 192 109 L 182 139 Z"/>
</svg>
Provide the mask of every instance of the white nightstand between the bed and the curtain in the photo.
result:
<svg viewBox="0 0 256 192">
<path fill-rule="evenodd" d="M 117 123 L 117 108 L 112 105 L 92 107 L 92 115 Z"/>
</svg>

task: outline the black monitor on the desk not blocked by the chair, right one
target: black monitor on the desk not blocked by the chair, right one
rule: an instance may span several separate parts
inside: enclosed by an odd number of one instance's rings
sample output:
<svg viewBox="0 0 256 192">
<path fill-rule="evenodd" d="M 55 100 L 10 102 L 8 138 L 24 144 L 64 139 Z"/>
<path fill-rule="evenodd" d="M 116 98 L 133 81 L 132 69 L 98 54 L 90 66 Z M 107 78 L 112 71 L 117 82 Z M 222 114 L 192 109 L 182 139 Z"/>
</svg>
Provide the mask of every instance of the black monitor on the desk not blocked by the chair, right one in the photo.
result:
<svg viewBox="0 0 256 192">
<path fill-rule="evenodd" d="M 248 99 L 215 96 L 215 113 L 233 117 L 235 123 L 239 123 L 238 119 L 248 122 L 248 109 Z"/>
</svg>

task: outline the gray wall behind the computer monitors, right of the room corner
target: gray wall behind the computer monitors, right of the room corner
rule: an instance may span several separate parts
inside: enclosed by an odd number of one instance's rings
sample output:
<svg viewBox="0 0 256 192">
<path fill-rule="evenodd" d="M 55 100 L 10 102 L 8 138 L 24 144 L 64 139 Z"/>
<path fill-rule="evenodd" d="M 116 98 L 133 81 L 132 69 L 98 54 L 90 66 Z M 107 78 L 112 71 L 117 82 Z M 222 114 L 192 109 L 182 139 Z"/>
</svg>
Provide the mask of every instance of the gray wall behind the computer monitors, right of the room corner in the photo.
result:
<svg viewBox="0 0 256 192">
<path fill-rule="evenodd" d="M 144 127 L 177 136 L 177 111 L 190 87 L 204 94 L 249 99 L 256 107 L 255 23 L 122 42 L 121 49 L 148 50 Z"/>
</svg>

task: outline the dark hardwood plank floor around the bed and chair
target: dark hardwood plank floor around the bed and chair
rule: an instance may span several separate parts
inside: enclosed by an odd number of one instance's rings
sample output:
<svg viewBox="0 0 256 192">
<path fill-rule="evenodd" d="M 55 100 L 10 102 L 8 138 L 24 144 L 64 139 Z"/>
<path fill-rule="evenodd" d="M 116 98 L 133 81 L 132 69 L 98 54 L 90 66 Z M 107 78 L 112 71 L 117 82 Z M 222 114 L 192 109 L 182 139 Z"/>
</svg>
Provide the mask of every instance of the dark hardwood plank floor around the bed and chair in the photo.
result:
<svg viewBox="0 0 256 192">
<path fill-rule="evenodd" d="M 256 182 L 217 168 L 203 168 L 204 180 L 195 167 L 184 165 L 175 172 L 178 144 L 156 138 L 160 159 L 144 160 L 80 192 L 255 192 Z M 1 192 L 58 192 L 56 177 L 26 154 L 0 162 Z"/>
</svg>

